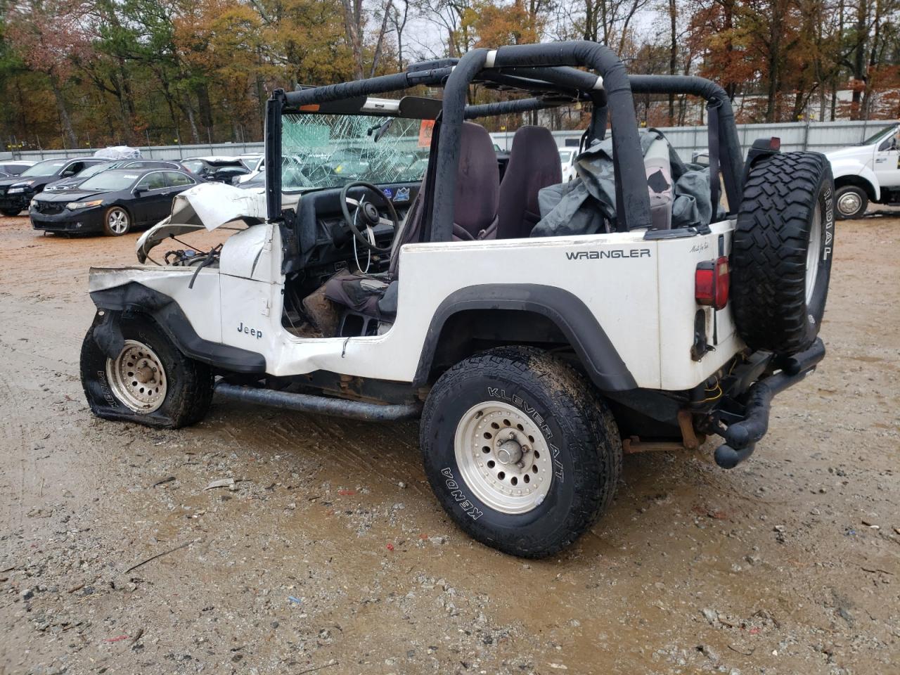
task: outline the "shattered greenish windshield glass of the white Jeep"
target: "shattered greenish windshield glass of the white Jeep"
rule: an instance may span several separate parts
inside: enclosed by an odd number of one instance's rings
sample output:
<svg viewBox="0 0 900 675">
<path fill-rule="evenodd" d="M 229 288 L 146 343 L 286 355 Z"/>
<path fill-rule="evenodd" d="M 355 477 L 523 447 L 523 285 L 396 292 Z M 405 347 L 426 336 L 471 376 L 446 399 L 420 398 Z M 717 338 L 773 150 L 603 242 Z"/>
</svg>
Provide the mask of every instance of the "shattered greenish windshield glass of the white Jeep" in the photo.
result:
<svg viewBox="0 0 900 675">
<path fill-rule="evenodd" d="M 284 115 L 282 189 L 420 181 L 433 124 L 373 115 Z"/>
</svg>

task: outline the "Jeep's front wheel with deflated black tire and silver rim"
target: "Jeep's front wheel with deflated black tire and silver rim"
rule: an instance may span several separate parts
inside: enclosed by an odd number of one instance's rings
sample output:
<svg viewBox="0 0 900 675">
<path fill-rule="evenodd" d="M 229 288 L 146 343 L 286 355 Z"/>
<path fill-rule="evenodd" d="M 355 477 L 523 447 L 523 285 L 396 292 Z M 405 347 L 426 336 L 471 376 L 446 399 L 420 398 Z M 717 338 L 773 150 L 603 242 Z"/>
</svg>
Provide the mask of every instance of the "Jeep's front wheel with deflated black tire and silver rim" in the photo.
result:
<svg viewBox="0 0 900 675">
<path fill-rule="evenodd" d="M 184 356 L 143 315 L 121 316 L 121 349 L 109 358 L 94 335 L 100 323 L 98 315 L 81 346 L 81 383 L 94 415 L 157 428 L 203 419 L 212 401 L 208 365 Z"/>
</svg>

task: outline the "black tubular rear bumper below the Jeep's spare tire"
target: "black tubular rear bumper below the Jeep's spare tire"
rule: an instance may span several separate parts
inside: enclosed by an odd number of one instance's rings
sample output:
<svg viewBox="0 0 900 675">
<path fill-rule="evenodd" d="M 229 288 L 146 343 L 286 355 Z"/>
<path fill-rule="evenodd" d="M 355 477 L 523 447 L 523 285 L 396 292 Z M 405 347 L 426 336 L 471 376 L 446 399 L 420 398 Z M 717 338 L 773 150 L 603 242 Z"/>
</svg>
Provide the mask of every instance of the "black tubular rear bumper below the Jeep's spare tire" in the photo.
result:
<svg viewBox="0 0 900 675">
<path fill-rule="evenodd" d="M 716 448 L 716 464 L 723 469 L 734 469 L 752 455 L 757 442 L 769 430 L 772 398 L 812 373 L 824 356 L 822 338 L 815 338 L 813 346 L 805 352 L 788 356 L 779 373 L 753 384 L 747 392 L 744 418 L 716 432 L 725 438 L 725 443 Z"/>
</svg>

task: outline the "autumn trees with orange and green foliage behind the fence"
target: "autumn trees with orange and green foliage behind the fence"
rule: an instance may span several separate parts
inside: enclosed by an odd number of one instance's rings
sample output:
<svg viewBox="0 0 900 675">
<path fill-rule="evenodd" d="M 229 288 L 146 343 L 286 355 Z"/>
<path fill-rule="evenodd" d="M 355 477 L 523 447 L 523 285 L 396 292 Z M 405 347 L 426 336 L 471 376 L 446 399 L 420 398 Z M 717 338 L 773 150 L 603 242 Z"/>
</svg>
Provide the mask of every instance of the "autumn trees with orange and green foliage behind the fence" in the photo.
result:
<svg viewBox="0 0 900 675">
<path fill-rule="evenodd" d="M 633 72 L 710 77 L 741 121 L 900 115 L 900 0 L 16 0 L 0 3 L 0 137 L 258 140 L 275 87 L 572 39 L 608 43 Z M 704 114 L 674 94 L 636 107 L 656 125 Z M 568 127 L 582 112 L 547 114 Z"/>
</svg>

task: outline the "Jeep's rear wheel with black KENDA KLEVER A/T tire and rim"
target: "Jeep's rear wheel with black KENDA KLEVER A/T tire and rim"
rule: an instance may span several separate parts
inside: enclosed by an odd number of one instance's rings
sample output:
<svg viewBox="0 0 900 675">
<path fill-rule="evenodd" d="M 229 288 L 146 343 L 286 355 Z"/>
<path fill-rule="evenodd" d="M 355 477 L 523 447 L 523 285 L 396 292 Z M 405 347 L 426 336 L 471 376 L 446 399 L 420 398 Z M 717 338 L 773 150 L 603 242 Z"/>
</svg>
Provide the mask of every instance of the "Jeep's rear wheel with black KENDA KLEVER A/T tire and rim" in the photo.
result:
<svg viewBox="0 0 900 675">
<path fill-rule="evenodd" d="M 590 383 L 527 347 L 492 349 L 441 375 L 419 435 L 447 514 L 482 544 L 528 558 L 578 539 L 622 469 L 616 422 Z"/>
</svg>

